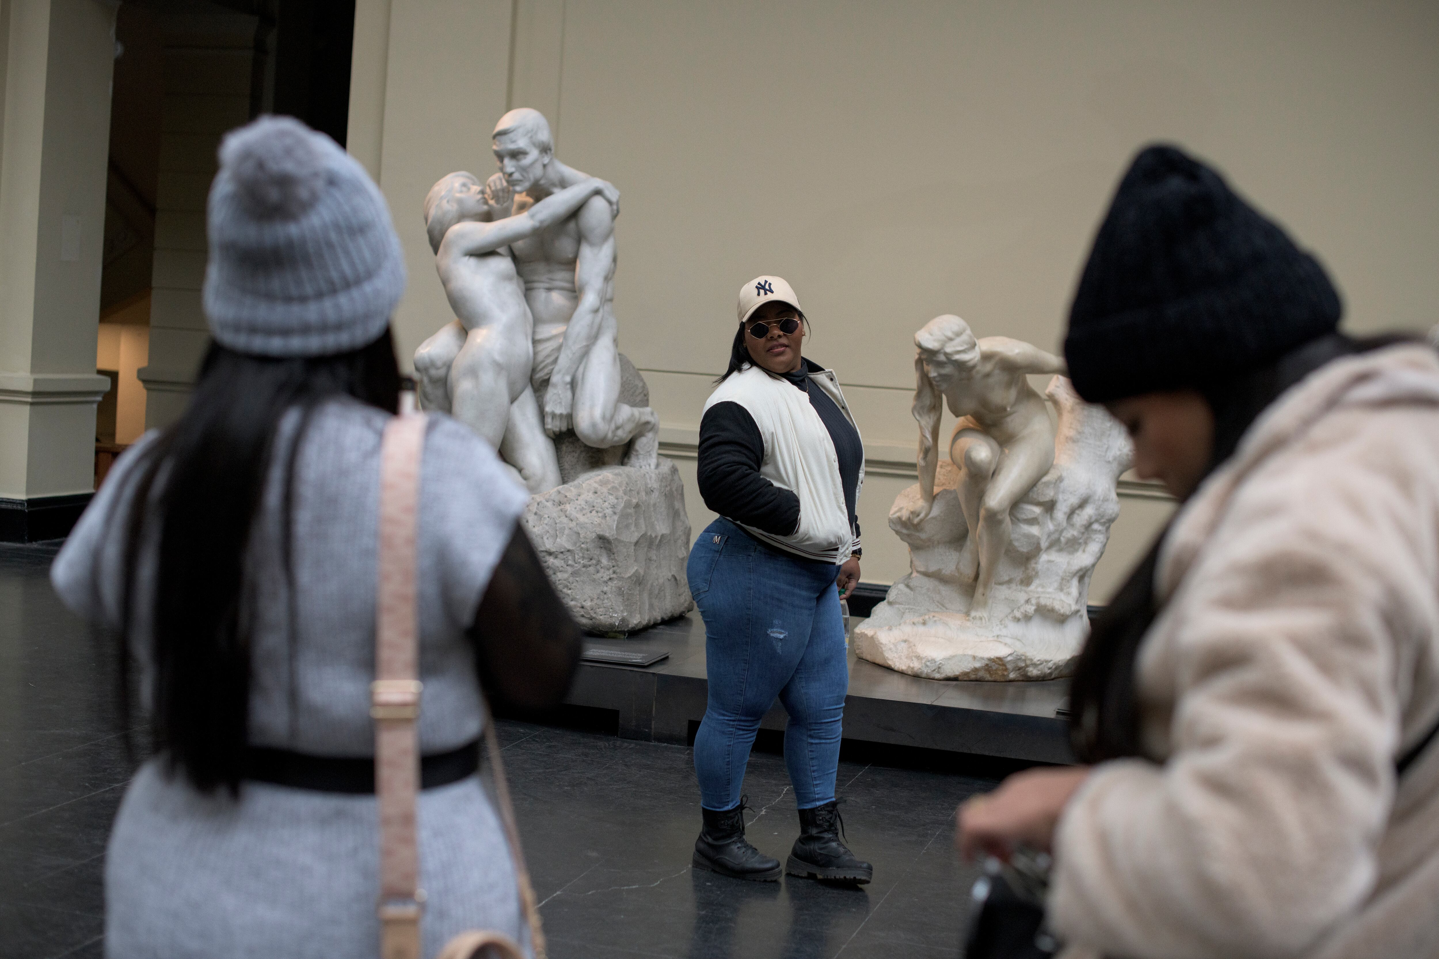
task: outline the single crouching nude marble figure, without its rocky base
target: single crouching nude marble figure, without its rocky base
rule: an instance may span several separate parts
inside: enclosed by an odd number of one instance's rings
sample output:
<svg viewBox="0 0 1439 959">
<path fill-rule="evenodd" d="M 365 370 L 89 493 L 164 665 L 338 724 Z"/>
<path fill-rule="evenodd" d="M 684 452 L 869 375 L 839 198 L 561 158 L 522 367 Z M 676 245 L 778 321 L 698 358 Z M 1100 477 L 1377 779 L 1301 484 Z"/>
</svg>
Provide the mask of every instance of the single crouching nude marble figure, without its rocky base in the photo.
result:
<svg viewBox="0 0 1439 959">
<path fill-rule="evenodd" d="M 958 316 L 937 316 L 914 336 L 914 418 L 920 421 L 918 525 L 934 506 L 944 403 L 960 417 L 950 459 L 960 469 L 958 497 L 970 536 L 955 574 L 974 581 L 970 623 L 989 621 L 994 572 L 1009 546 L 1009 510 L 1055 463 L 1055 427 L 1027 374 L 1065 372 L 1063 359 L 1007 336 L 976 339 Z"/>
</svg>

